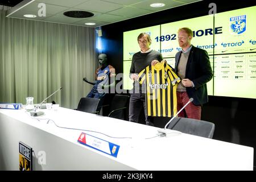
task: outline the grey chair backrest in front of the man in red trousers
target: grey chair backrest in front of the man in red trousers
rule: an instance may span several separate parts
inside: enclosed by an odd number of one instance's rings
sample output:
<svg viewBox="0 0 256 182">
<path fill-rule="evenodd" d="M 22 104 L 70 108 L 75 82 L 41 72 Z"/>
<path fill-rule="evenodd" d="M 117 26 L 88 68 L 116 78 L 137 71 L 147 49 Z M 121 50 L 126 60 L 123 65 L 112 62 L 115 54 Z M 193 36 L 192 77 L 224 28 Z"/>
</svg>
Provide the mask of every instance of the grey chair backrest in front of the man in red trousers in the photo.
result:
<svg viewBox="0 0 256 182">
<path fill-rule="evenodd" d="M 185 134 L 196 135 L 199 137 L 212 138 L 215 125 L 212 122 L 190 118 L 174 118 L 168 129 L 181 131 Z"/>
</svg>

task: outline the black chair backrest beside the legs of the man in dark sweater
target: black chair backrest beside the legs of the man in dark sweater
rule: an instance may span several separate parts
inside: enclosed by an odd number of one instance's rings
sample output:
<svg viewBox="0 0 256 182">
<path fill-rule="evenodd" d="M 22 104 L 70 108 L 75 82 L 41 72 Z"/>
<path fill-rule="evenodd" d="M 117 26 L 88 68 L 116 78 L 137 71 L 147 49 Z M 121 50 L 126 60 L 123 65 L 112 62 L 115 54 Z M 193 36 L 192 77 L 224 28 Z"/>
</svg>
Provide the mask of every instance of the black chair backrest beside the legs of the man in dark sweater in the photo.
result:
<svg viewBox="0 0 256 182">
<path fill-rule="evenodd" d="M 130 96 L 115 94 L 110 104 L 108 117 L 125 120 L 126 108 L 129 105 Z"/>
</svg>

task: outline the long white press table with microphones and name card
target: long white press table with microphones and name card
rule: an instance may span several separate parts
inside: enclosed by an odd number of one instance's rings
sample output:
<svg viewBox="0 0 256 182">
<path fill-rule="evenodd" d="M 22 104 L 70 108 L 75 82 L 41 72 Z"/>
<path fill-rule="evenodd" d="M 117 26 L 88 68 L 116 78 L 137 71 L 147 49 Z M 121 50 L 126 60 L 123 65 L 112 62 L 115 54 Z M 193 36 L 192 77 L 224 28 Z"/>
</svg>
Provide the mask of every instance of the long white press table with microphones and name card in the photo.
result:
<svg viewBox="0 0 256 182">
<path fill-rule="evenodd" d="M 0 109 L 1 170 L 19 170 L 19 142 L 32 147 L 33 170 L 253 170 L 252 147 L 175 131 L 155 137 L 157 127 L 63 107 L 43 111 L 33 118 L 23 109 Z M 81 133 L 117 144 L 117 157 L 77 142 Z"/>
</svg>

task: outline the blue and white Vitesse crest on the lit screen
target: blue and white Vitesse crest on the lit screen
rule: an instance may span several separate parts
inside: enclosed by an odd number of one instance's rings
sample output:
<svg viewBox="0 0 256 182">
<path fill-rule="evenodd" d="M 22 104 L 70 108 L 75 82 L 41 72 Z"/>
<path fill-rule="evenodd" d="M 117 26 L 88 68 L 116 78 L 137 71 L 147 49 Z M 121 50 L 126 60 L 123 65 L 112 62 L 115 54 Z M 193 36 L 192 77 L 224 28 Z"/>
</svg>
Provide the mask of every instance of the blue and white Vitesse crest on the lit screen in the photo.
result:
<svg viewBox="0 0 256 182">
<path fill-rule="evenodd" d="M 234 16 L 229 19 L 232 34 L 240 35 L 246 31 L 246 15 Z"/>
</svg>

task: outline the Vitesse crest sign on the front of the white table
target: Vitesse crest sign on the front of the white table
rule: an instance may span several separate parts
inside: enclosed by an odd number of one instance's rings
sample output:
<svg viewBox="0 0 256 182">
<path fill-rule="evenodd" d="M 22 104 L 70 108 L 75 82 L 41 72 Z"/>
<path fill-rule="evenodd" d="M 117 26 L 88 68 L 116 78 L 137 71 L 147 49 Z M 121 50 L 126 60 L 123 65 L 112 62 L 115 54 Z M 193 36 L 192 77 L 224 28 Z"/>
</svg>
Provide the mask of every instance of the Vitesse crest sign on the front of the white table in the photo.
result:
<svg viewBox="0 0 256 182">
<path fill-rule="evenodd" d="M 19 142 L 19 171 L 32 171 L 32 148 Z"/>
</svg>

